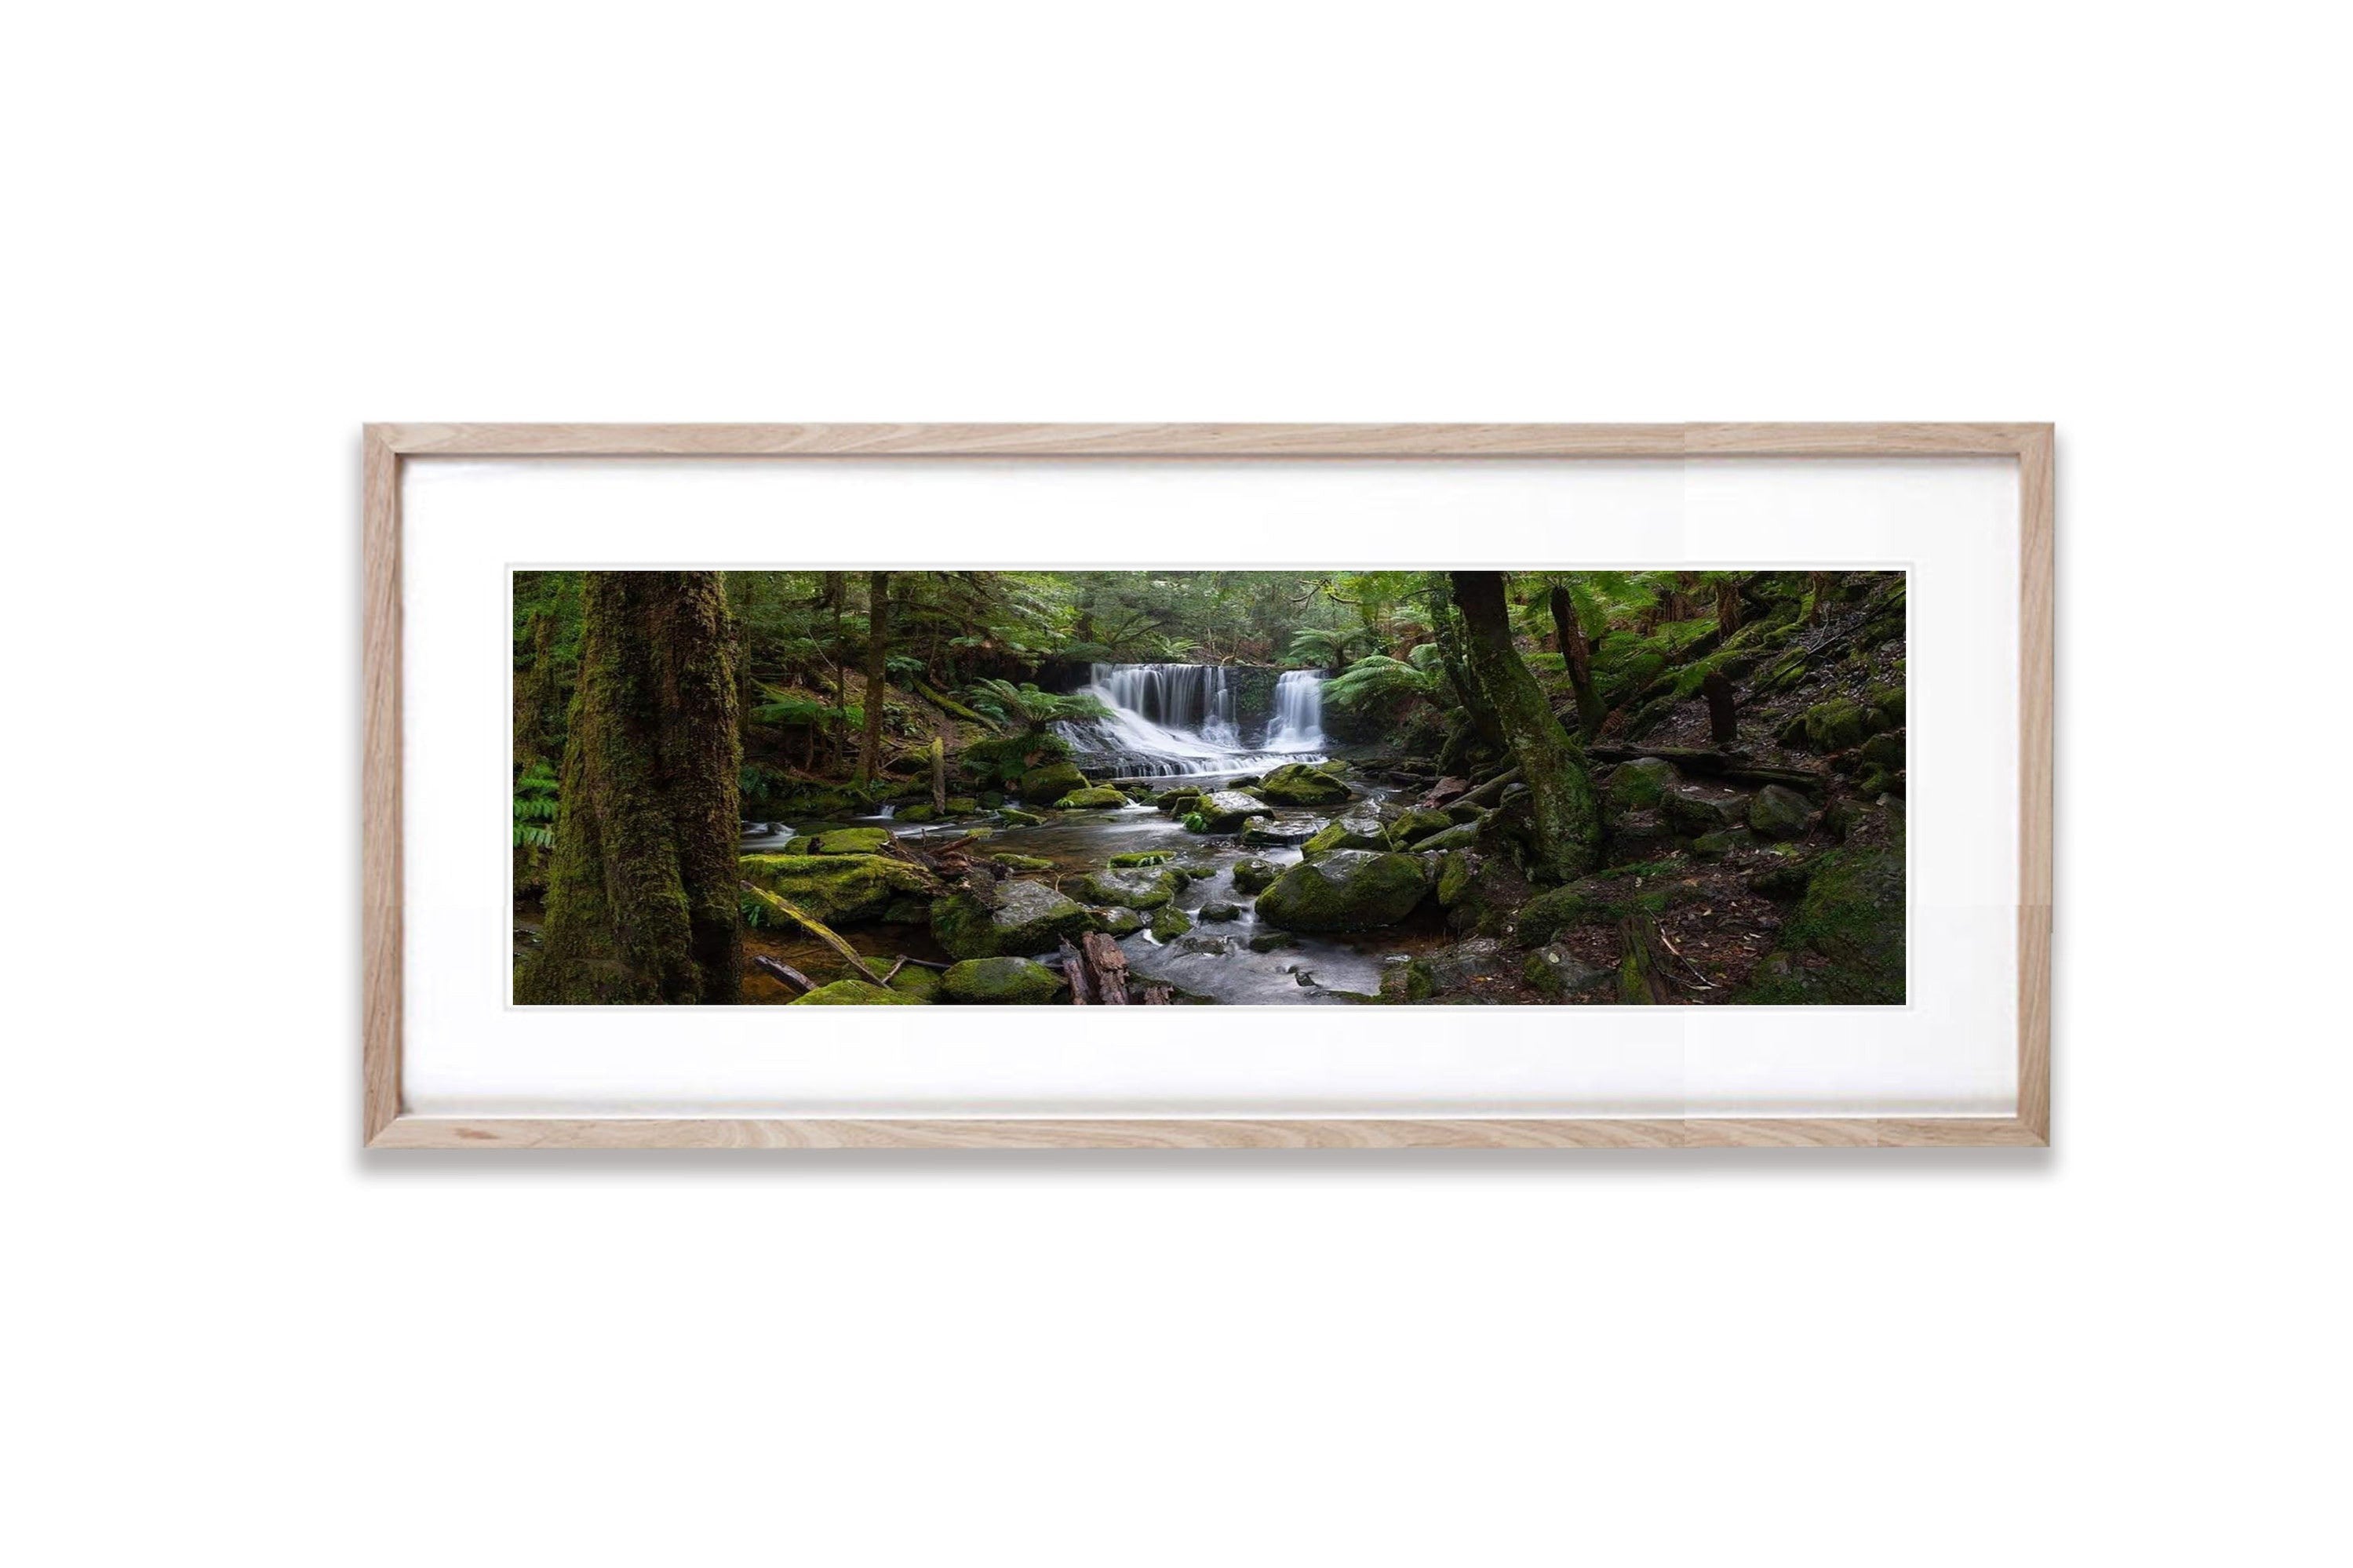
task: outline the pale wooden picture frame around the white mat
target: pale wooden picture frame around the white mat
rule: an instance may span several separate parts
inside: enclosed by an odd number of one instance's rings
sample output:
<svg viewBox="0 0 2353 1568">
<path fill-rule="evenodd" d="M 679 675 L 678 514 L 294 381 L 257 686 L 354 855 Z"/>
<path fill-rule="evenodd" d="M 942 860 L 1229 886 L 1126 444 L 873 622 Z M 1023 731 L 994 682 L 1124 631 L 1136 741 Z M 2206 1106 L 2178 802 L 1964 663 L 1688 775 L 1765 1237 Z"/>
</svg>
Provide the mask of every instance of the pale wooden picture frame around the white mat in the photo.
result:
<svg viewBox="0 0 2353 1568">
<path fill-rule="evenodd" d="M 445 1119 L 405 1114 L 400 468 L 414 456 L 1944 458 L 2019 463 L 2017 1107 L 1809 1119 Z M 2049 1145 L 2052 425 L 428 425 L 362 435 L 362 1138 L 454 1147 L 1737 1147 Z"/>
</svg>

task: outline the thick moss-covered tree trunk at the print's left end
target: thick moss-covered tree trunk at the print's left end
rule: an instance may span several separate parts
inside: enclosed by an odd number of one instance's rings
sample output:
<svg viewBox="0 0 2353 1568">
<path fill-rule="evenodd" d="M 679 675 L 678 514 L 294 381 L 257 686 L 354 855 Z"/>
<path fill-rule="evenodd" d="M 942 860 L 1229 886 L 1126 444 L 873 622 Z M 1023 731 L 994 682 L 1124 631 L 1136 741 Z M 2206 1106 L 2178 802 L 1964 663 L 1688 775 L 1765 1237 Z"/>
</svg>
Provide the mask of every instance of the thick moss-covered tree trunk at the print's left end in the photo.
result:
<svg viewBox="0 0 2353 1568">
<path fill-rule="evenodd" d="M 734 646 L 715 571 L 591 571 L 548 922 L 515 1001 L 734 1001 Z"/>
</svg>

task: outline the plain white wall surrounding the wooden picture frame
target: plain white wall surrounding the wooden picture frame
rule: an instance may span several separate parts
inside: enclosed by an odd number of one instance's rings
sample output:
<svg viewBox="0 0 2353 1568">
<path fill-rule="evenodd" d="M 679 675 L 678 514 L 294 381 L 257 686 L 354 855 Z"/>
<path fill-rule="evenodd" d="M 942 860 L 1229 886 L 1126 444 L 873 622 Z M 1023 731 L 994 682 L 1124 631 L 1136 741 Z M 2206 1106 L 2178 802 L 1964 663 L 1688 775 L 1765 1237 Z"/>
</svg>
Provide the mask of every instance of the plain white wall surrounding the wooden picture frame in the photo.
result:
<svg viewBox="0 0 2353 1568">
<path fill-rule="evenodd" d="M 0 1544 L 2341 1552 L 2322 24 L 16 19 Z M 2061 423 L 2057 1152 L 358 1152 L 362 418 L 1687 416 Z"/>
</svg>

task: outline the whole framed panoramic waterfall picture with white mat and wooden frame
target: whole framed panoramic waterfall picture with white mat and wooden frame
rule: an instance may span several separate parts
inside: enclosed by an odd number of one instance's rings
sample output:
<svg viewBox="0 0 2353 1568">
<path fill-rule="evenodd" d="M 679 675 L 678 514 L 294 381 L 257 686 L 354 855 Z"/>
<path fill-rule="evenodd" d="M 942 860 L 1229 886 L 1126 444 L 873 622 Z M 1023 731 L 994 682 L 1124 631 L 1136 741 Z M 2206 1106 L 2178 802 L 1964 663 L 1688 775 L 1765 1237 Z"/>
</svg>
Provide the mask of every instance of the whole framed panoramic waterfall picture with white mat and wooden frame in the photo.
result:
<svg viewBox="0 0 2353 1568">
<path fill-rule="evenodd" d="M 369 1147 L 2049 1143 L 2049 425 L 362 444 Z"/>
</svg>

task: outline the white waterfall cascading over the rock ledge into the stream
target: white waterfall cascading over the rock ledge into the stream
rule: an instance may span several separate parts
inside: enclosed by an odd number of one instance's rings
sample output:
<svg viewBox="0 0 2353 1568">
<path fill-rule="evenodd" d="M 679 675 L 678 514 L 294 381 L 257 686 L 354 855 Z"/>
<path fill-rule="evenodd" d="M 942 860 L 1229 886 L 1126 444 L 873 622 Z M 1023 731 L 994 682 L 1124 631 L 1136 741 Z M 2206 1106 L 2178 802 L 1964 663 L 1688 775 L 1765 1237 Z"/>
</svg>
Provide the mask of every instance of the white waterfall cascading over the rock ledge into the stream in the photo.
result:
<svg viewBox="0 0 2353 1568">
<path fill-rule="evenodd" d="M 1111 717 L 1054 729 L 1080 764 L 1108 766 L 1127 778 L 1249 773 L 1308 759 L 1306 752 L 1322 748 L 1320 677 L 1313 670 L 1287 670 L 1275 684 L 1275 722 L 1257 750 L 1242 748 L 1233 686 L 1226 665 L 1092 665 L 1082 691 L 1111 708 Z"/>
</svg>

